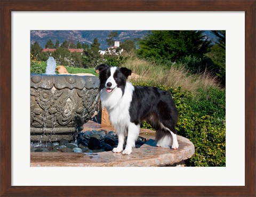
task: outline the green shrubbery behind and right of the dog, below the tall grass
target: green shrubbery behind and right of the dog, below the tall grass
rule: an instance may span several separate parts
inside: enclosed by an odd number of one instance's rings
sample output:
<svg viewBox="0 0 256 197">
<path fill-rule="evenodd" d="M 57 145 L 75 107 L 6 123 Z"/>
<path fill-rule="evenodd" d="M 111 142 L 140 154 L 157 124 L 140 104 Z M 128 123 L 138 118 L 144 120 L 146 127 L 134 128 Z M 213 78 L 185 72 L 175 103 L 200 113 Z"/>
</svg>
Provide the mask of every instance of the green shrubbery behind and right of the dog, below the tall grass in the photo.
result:
<svg viewBox="0 0 256 197">
<path fill-rule="evenodd" d="M 185 161 L 185 165 L 225 166 L 226 127 L 223 121 L 218 121 L 218 116 L 225 119 L 225 99 L 223 99 L 225 92 L 210 88 L 209 91 L 195 97 L 191 92 L 183 91 L 180 86 L 178 88 L 162 85 L 157 87 L 171 92 L 179 111 L 179 121 L 176 127 L 178 135 L 188 138 L 195 145 L 195 154 Z M 203 98 L 208 99 L 204 100 Z M 197 99 L 199 100 L 193 105 Z M 200 108 L 201 104 L 202 108 Z M 222 108 L 218 109 L 219 106 Z M 217 109 L 219 111 L 215 111 L 215 113 L 211 111 Z M 142 127 L 150 128 L 150 125 L 143 122 Z"/>
</svg>

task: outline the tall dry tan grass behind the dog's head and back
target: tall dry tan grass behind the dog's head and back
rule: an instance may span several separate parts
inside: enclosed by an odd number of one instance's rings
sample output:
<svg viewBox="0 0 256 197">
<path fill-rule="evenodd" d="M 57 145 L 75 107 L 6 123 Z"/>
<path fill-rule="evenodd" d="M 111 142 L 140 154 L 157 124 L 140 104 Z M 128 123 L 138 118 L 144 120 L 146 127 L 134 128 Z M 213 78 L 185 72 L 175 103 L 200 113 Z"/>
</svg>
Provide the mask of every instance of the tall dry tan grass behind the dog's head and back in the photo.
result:
<svg viewBox="0 0 256 197">
<path fill-rule="evenodd" d="M 181 86 L 182 89 L 188 89 L 192 93 L 196 93 L 198 89 L 206 90 L 211 86 L 220 88 L 217 79 L 209 73 L 191 75 L 182 64 L 176 64 L 168 68 L 164 65 L 133 57 L 121 66 L 129 68 L 133 73 L 139 75 L 132 76 L 130 79 L 136 83 L 147 83 L 152 86 L 161 84 L 174 88 Z"/>
</svg>

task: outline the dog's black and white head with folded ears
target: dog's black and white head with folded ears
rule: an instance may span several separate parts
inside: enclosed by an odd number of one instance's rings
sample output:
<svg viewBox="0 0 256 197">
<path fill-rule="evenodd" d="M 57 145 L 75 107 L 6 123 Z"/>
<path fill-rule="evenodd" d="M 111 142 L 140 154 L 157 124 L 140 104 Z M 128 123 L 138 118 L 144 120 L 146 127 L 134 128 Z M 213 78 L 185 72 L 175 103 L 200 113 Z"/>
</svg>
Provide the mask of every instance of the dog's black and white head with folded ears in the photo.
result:
<svg viewBox="0 0 256 197">
<path fill-rule="evenodd" d="M 98 65 L 95 70 L 99 71 L 100 90 L 106 89 L 108 93 L 112 93 L 116 88 L 121 88 L 124 93 L 126 79 L 132 74 L 127 68 L 109 67 L 106 64 Z"/>
</svg>

